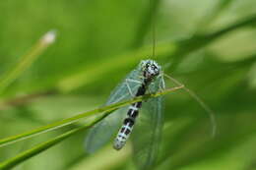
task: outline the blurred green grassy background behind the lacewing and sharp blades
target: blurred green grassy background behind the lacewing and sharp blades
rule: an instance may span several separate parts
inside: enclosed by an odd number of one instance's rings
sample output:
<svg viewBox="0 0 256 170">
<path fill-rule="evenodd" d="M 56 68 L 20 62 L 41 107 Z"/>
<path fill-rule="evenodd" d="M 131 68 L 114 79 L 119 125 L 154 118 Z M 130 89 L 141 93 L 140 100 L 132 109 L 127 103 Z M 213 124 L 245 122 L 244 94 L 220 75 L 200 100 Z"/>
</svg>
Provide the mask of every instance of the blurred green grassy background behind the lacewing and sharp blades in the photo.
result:
<svg viewBox="0 0 256 170">
<path fill-rule="evenodd" d="M 256 169 L 255 0 L 7 0 L 0 3 L 0 80 L 42 34 L 49 46 L 0 94 L 0 138 L 23 133 L 102 105 L 141 59 L 152 54 L 166 74 L 196 91 L 215 110 L 182 90 L 164 96 L 164 128 L 155 169 Z M 171 86 L 171 82 L 166 80 Z M 0 148 L 0 162 L 70 130 Z M 110 142 L 95 154 L 87 132 L 33 156 L 17 170 L 135 169 L 131 145 Z"/>
</svg>

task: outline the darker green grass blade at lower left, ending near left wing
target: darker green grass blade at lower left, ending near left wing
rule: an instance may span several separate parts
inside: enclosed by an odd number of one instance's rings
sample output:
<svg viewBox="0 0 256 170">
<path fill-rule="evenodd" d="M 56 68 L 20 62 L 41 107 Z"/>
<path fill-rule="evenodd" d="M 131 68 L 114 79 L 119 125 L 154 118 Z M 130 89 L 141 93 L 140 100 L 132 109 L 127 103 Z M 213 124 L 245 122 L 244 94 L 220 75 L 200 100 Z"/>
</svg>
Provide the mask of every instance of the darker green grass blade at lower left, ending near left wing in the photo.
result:
<svg viewBox="0 0 256 170">
<path fill-rule="evenodd" d="M 54 146 L 55 144 L 66 140 L 67 138 L 77 134 L 78 132 L 84 131 L 84 130 L 92 127 L 98 121 L 102 120 L 105 116 L 107 116 L 109 113 L 111 113 L 111 112 L 107 112 L 107 113 L 101 115 L 100 117 L 97 117 L 96 120 L 94 120 L 90 124 L 84 125 L 79 128 L 75 128 L 71 131 L 68 131 L 68 132 L 62 134 L 62 135 L 59 135 L 58 137 L 56 137 L 52 140 L 49 140 L 47 142 L 41 142 L 41 143 L 33 146 L 31 149 L 28 149 L 22 153 L 17 154 L 15 157 L 12 157 L 12 158 L 0 163 L 0 169 L 5 170 L 5 169 L 13 168 L 14 166 L 30 159 L 32 156 L 39 154 L 40 152 Z"/>
</svg>

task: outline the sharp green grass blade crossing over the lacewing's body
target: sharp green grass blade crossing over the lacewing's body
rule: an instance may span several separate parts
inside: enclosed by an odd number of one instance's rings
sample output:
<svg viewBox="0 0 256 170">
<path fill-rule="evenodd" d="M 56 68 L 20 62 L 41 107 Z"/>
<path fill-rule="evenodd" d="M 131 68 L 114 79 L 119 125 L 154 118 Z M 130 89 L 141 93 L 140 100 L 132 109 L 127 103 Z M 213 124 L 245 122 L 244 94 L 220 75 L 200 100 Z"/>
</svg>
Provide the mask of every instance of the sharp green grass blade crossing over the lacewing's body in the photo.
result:
<svg viewBox="0 0 256 170">
<path fill-rule="evenodd" d="M 49 131 L 52 131 L 52 130 L 55 130 L 55 129 L 59 129 L 59 128 L 67 126 L 67 125 L 74 124 L 74 123 L 78 122 L 79 120 L 81 120 L 83 118 L 86 118 L 86 117 L 89 117 L 89 116 L 92 116 L 92 115 L 96 115 L 98 113 L 111 112 L 115 109 L 118 109 L 120 107 L 126 106 L 126 105 L 134 103 L 134 102 L 146 100 L 150 97 L 158 97 L 160 95 L 166 94 L 168 92 L 174 91 L 174 90 L 182 88 L 182 87 L 183 86 L 167 88 L 167 89 L 164 89 L 164 90 L 162 90 L 160 92 L 157 92 L 157 93 L 154 93 L 154 94 L 146 94 L 146 95 L 143 95 L 143 96 L 135 97 L 133 99 L 129 99 L 129 100 L 126 100 L 126 101 L 121 101 L 121 102 L 118 102 L 118 103 L 110 104 L 110 105 L 107 105 L 107 106 L 104 106 L 104 107 L 99 107 L 99 108 L 96 108 L 95 110 L 91 110 L 91 111 L 88 111 L 88 112 L 85 112 L 85 113 L 82 113 L 82 114 L 79 114 L 79 115 L 76 115 L 76 116 L 73 116 L 73 117 L 70 117 L 70 118 L 67 118 L 67 119 L 63 119 L 63 120 L 60 120 L 60 121 L 57 121 L 57 122 L 53 122 L 51 124 L 48 124 L 48 125 L 45 125 L 45 126 L 42 126 L 42 127 L 39 127 L 39 128 L 35 128 L 32 131 L 29 131 L 29 132 L 26 132 L 26 133 L 23 133 L 23 134 L 19 134 L 19 135 L 16 135 L 16 136 L 12 136 L 12 137 L 9 137 L 9 138 L 2 139 L 2 140 L 0 140 L 0 147 L 4 146 L 4 145 L 8 145 L 10 143 L 23 141 L 23 140 L 32 138 L 34 136 L 37 136 L 39 134 L 43 134 L 43 133 L 46 133 L 46 132 L 49 132 Z"/>
</svg>

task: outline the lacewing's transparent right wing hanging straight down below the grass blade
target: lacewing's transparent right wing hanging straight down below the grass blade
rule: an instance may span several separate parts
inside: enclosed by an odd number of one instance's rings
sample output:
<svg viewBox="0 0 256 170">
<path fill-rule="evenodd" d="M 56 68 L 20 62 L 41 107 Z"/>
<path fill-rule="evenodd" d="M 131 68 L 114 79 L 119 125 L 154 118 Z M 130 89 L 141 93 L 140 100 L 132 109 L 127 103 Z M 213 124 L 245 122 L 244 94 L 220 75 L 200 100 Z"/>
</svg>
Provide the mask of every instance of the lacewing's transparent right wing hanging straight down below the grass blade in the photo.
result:
<svg viewBox="0 0 256 170">
<path fill-rule="evenodd" d="M 151 92 L 160 90 L 161 78 L 150 86 Z M 162 97 L 143 103 L 141 113 L 131 135 L 134 161 L 139 169 L 153 169 L 157 161 L 162 129 Z"/>
</svg>

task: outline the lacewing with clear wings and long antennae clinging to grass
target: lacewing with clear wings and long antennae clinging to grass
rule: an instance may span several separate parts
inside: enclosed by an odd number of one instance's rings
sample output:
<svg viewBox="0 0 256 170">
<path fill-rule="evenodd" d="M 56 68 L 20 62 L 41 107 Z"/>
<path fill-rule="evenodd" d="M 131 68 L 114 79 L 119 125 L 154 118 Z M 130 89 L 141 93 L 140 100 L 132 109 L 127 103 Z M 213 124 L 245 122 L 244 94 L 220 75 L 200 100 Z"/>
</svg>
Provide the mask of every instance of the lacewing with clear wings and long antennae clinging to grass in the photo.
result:
<svg viewBox="0 0 256 170">
<path fill-rule="evenodd" d="M 155 28 L 153 31 L 153 57 L 155 56 Z M 130 72 L 124 81 L 115 87 L 105 105 L 129 99 L 145 93 L 158 92 L 165 88 L 164 79 L 168 78 L 176 88 L 185 89 L 209 113 L 213 134 L 216 131 L 214 112 L 190 89 L 165 75 L 160 65 L 152 59 L 143 60 Z M 149 169 L 156 163 L 162 130 L 162 97 L 133 103 L 116 110 L 91 129 L 86 139 L 86 149 L 95 152 L 113 139 L 113 148 L 120 150 L 131 135 L 133 153 L 140 169 Z M 119 130 L 119 131 L 118 131 Z"/>
</svg>

